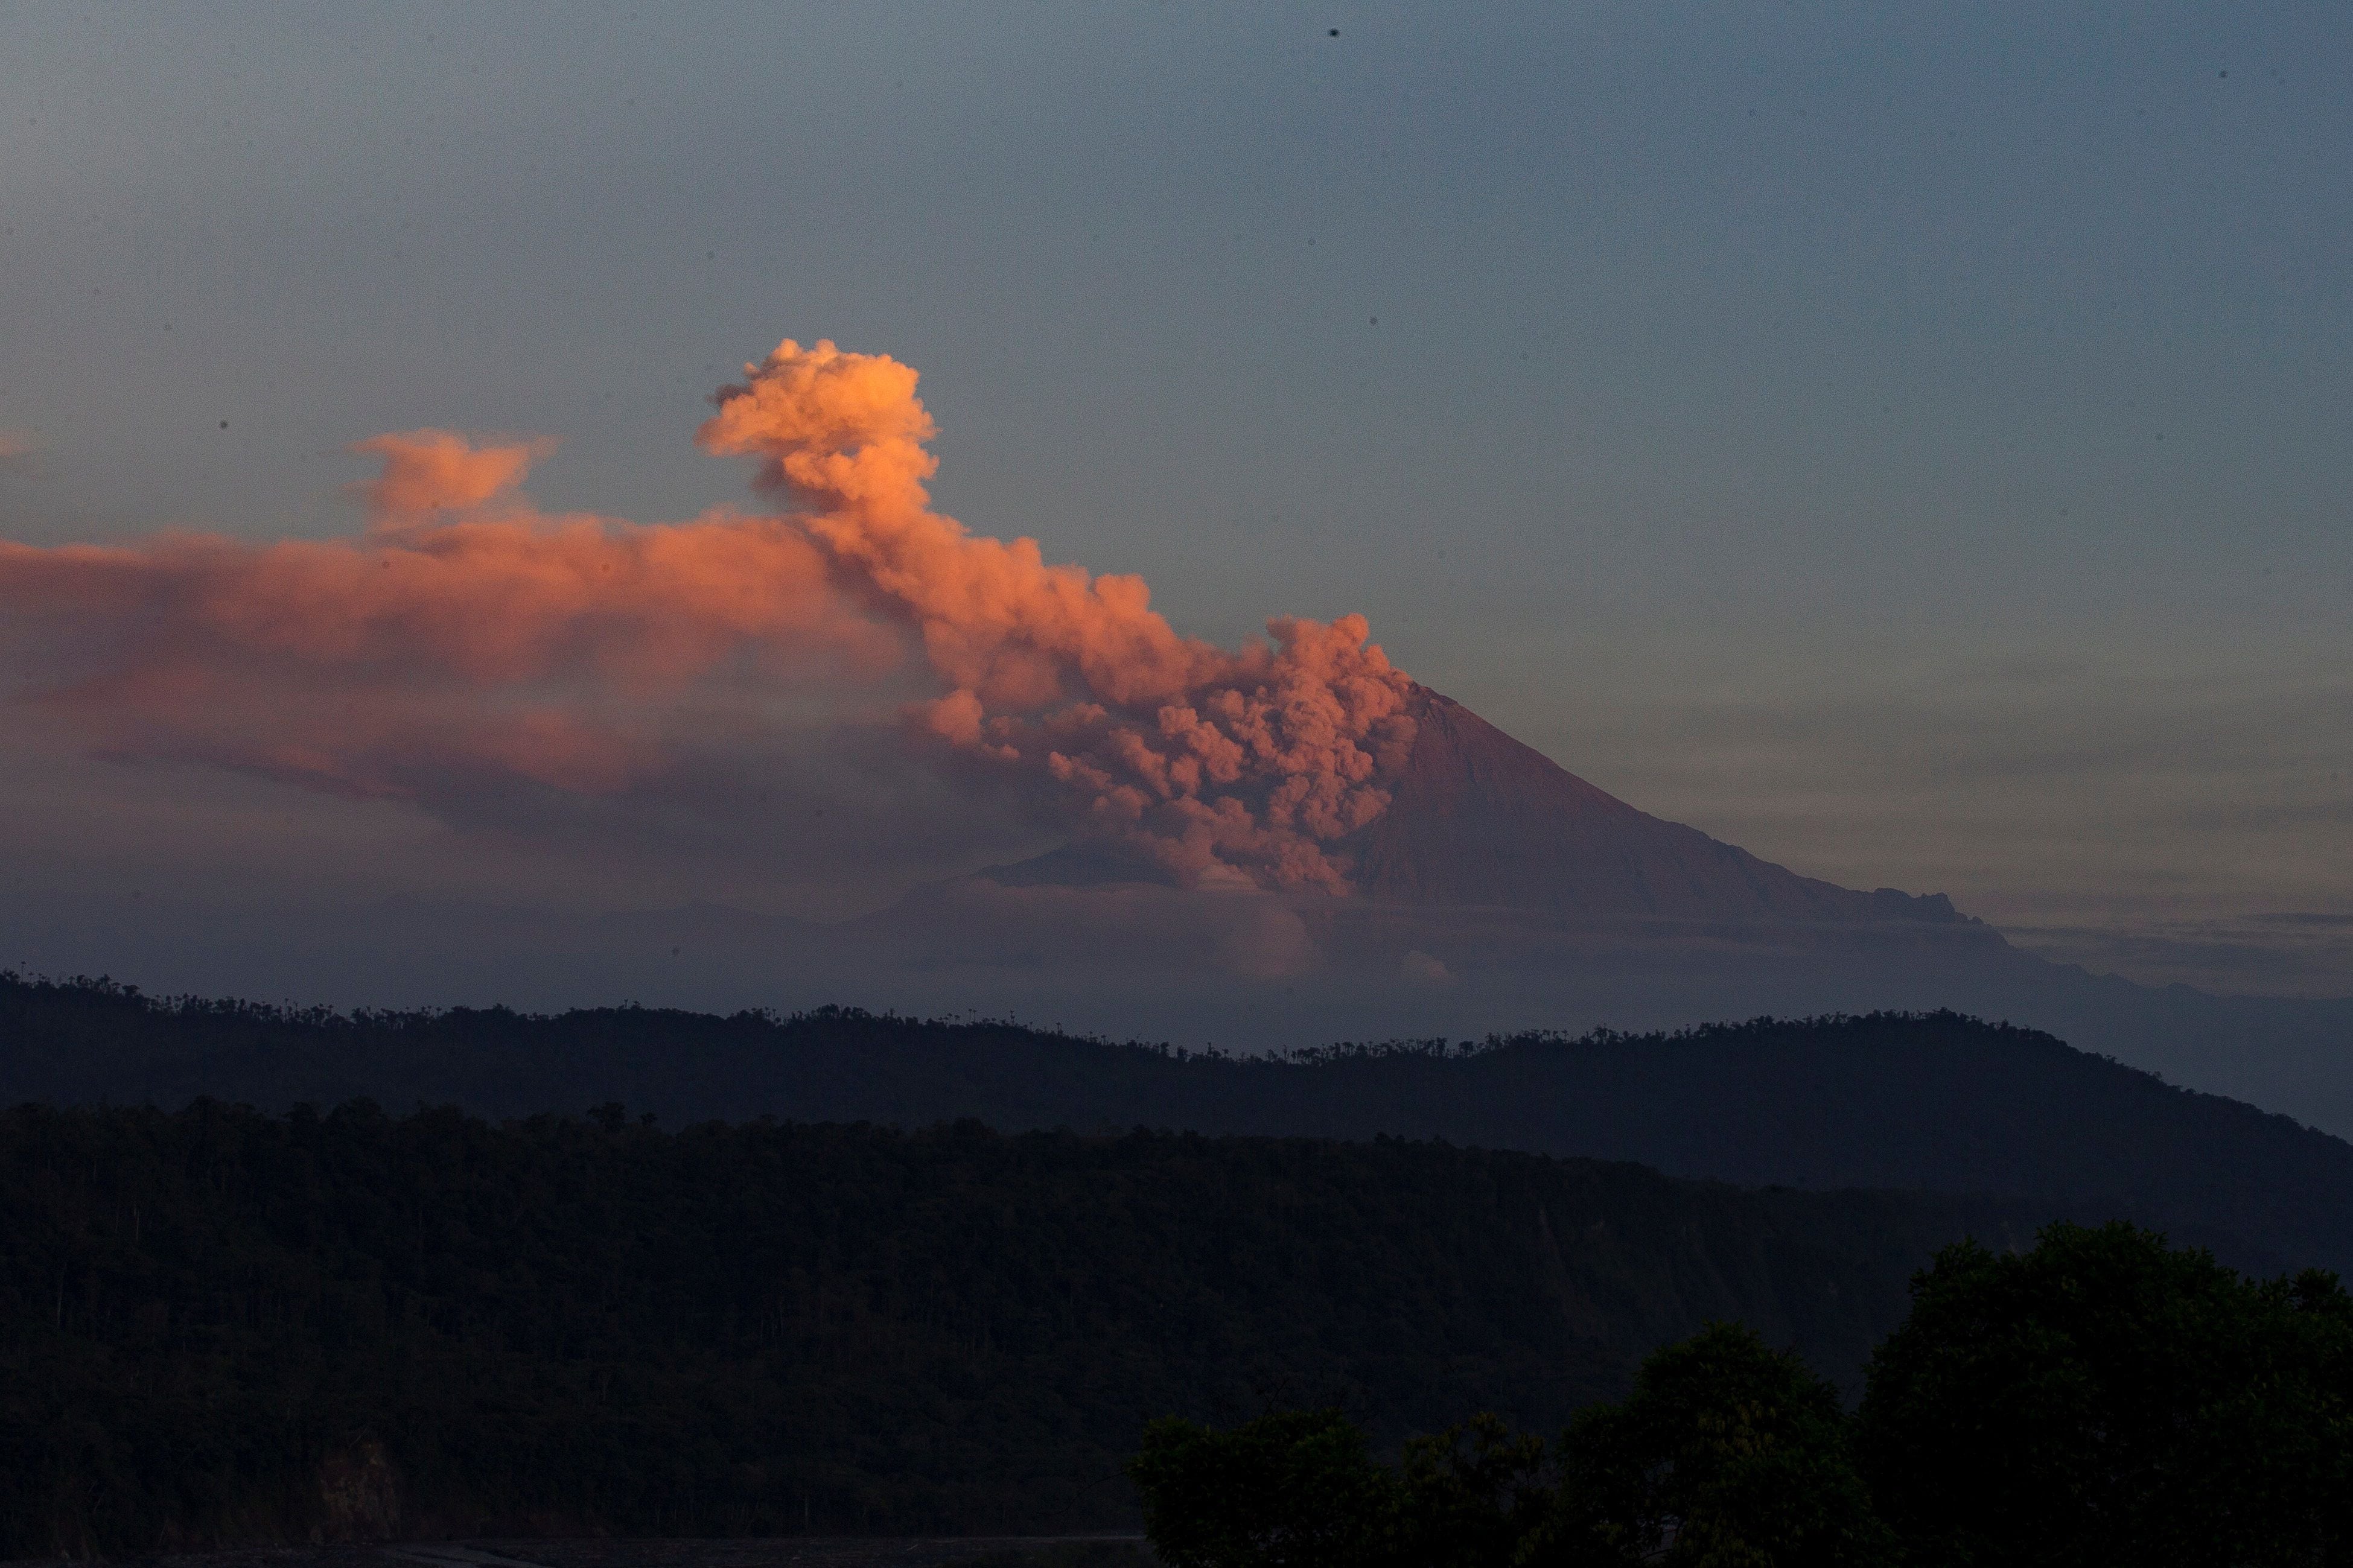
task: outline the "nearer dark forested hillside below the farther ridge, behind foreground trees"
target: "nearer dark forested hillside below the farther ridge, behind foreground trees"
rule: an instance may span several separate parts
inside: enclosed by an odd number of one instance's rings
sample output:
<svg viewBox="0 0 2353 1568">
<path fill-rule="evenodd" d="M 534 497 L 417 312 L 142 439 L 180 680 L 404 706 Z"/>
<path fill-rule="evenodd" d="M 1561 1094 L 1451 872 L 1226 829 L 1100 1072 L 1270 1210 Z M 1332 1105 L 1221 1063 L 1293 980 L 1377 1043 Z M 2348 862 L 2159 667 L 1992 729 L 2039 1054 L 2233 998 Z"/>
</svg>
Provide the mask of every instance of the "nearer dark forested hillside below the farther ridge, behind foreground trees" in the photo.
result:
<svg viewBox="0 0 2353 1568">
<path fill-rule="evenodd" d="M 1706 1319 L 1852 1378 L 2031 1222 L 1395 1140 L 19 1107 L 0 1556 L 1120 1523 L 1162 1413 L 1551 1427 Z"/>
</svg>

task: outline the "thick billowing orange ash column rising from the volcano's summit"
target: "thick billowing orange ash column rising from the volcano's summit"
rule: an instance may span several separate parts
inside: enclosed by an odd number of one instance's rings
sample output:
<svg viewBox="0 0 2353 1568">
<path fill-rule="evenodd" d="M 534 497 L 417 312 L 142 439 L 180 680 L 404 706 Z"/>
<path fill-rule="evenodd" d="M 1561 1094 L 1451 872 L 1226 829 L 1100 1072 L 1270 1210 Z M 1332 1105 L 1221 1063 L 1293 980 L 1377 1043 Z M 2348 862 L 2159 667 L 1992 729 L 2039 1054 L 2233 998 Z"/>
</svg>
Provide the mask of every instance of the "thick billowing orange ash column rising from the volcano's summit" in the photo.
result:
<svg viewBox="0 0 2353 1568">
<path fill-rule="evenodd" d="M 1280 618 L 1242 651 L 1179 637 L 1134 576 L 1049 567 L 929 508 L 915 371 L 786 339 L 720 393 L 708 451 L 762 458 L 807 536 L 901 618 L 951 691 L 932 733 L 1052 783 L 1092 832 L 1184 877 L 1346 884 L 1332 844 L 1388 804 L 1412 741 L 1407 679 L 1360 616 Z"/>
</svg>

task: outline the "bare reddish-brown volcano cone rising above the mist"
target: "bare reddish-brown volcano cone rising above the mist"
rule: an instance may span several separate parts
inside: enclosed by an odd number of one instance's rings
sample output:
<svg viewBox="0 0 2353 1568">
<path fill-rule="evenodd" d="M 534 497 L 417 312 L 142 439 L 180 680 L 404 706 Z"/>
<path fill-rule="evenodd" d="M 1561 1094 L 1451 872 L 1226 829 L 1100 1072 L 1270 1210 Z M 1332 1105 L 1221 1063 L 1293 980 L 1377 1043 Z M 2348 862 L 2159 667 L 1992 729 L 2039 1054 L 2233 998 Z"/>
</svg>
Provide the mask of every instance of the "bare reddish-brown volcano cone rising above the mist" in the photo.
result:
<svg viewBox="0 0 2353 1568">
<path fill-rule="evenodd" d="M 1944 893 L 1864 893 L 1628 806 L 1449 696 L 1417 684 L 1388 811 L 1344 849 L 1360 896 L 1584 919 L 1972 924 Z M 981 872 L 1002 886 L 1167 882 L 1104 844 Z"/>
</svg>

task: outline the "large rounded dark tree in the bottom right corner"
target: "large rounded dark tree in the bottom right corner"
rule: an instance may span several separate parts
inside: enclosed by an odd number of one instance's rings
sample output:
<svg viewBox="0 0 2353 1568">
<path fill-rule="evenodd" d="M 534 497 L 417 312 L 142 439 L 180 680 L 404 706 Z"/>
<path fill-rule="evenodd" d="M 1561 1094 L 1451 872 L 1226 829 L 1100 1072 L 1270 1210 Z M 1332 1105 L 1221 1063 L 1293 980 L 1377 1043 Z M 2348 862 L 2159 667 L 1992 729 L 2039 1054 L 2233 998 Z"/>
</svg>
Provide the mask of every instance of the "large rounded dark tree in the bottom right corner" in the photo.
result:
<svg viewBox="0 0 2353 1568">
<path fill-rule="evenodd" d="M 2341 1563 L 2353 1300 L 2122 1225 L 1955 1246 L 1873 1356 L 1861 1434 L 1918 1563 Z"/>
</svg>

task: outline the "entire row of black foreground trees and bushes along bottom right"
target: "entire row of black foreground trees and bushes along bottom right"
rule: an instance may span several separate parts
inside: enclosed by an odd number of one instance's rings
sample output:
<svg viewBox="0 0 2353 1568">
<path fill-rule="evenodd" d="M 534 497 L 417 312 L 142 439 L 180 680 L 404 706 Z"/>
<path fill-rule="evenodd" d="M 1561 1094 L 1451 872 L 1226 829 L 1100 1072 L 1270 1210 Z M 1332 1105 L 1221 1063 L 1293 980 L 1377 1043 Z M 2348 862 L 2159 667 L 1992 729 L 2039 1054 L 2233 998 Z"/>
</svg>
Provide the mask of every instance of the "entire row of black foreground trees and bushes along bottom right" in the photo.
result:
<svg viewBox="0 0 2353 1568">
<path fill-rule="evenodd" d="M 1482 1415 L 1381 1465 L 1339 1410 L 1129 1462 L 1169 1568 L 2318 1568 L 2353 1561 L 2353 1300 L 2129 1225 L 1946 1248 L 1859 1418 L 1713 1324 L 1546 1446 Z"/>
</svg>

